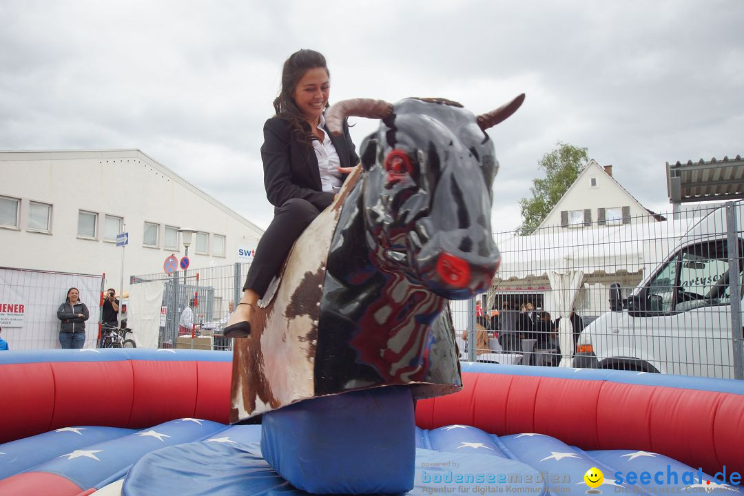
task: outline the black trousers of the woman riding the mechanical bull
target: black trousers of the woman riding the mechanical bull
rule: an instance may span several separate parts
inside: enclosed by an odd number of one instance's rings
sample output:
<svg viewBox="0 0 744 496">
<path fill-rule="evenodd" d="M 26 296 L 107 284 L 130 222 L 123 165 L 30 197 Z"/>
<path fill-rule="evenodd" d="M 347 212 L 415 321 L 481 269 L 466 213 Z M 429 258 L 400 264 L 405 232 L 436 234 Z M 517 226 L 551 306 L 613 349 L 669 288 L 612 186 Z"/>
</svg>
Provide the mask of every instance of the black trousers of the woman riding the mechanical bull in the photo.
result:
<svg viewBox="0 0 744 496">
<path fill-rule="evenodd" d="M 319 213 L 315 205 L 298 198 L 287 200 L 275 211 L 272 223 L 258 242 L 243 291 L 252 289 L 263 297 L 292 245 Z"/>
</svg>

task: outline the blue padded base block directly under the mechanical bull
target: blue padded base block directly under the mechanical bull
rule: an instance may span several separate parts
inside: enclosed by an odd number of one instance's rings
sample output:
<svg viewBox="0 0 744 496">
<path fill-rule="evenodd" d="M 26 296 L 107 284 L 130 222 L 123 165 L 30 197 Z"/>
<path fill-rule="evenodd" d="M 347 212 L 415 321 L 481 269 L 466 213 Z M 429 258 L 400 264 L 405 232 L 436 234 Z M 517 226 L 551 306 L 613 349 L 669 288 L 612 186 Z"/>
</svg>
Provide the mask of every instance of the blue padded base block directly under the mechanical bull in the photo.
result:
<svg viewBox="0 0 744 496">
<path fill-rule="evenodd" d="M 261 451 L 292 486 L 315 494 L 396 494 L 414 486 L 411 391 L 381 387 L 265 413 Z"/>
</svg>

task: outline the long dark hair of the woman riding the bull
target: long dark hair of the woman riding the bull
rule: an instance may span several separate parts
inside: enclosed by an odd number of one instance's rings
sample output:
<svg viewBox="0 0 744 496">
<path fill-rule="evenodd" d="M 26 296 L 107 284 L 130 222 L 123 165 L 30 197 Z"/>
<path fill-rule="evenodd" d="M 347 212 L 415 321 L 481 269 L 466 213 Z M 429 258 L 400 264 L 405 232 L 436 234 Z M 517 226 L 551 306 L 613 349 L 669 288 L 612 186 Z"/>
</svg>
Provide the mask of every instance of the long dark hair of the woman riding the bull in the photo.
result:
<svg viewBox="0 0 744 496">
<path fill-rule="evenodd" d="M 281 90 L 279 96 L 274 100 L 276 115 L 289 121 L 289 128 L 301 143 L 311 146 L 315 135 L 312 134 L 310 124 L 297 108 L 295 103 L 295 88 L 307 71 L 315 68 L 324 68 L 328 77 L 330 71 L 326 65 L 325 57 L 315 50 L 298 50 L 286 59 L 281 71 Z"/>
</svg>

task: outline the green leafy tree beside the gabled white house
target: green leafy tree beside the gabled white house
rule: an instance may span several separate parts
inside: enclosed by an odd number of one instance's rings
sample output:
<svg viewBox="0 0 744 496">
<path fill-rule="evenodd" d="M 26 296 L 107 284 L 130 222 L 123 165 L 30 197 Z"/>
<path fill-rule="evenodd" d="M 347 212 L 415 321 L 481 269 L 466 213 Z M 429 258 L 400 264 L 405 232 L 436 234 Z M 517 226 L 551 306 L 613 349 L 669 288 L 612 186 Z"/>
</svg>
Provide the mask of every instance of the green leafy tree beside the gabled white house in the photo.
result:
<svg viewBox="0 0 744 496">
<path fill-rule="evenodd" d="M 545 170 L 545 178 L 532 180 L 532 198 L 519 200 L 522 225 L 518 231 L 521 236 L 535 231 L 589 163 L 589 151 L 586 148 L 577 148 L 560 141 L 556 146 L 553 151 L 543 155 L 538 163 L 539 168 Z"/>
</svg>

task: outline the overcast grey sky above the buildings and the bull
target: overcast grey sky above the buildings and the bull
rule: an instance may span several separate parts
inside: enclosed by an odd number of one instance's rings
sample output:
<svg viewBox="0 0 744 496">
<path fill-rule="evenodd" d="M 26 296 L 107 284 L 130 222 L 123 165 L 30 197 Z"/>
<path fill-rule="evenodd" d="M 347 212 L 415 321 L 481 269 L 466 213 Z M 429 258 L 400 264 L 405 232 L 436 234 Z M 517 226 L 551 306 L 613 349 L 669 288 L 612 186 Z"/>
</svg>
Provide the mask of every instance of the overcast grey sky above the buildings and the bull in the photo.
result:
<svg viewBox="0 0 744 496">
<path fill-rule="evenodd" d="M 744 155 L 743 25 L 742 0 L 0 0 L 0 149 L 138 148 L 266 227 L 263 122 L 314 48 L 332 103 L 527 93 L 489 131 L 495 231 L 557 141 L 667 211 L 667 161 Z"/>
</svg>

